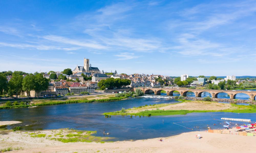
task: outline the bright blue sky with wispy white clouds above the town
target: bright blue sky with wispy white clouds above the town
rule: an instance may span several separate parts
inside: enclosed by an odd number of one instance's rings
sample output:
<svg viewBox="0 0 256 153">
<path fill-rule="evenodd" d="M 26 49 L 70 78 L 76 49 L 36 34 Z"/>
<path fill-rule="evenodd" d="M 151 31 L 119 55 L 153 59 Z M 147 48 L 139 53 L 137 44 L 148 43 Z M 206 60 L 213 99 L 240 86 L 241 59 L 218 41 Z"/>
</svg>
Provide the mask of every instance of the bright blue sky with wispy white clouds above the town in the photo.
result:
<svg viewBox="0 0 256 153">
<path fill-rule="evenodd" d="M 0 71 L 256 75 L 256 1 L 0 1 Z"/>
</svg>

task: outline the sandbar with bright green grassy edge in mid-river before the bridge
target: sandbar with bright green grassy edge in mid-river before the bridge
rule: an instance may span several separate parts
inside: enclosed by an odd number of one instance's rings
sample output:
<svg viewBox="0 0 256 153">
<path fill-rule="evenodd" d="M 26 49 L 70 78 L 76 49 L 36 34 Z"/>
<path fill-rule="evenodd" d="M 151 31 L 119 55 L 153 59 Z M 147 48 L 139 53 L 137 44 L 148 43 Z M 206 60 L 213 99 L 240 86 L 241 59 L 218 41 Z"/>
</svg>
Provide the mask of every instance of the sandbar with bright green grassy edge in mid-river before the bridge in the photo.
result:
<svg viewBox="0 0 256 153">
<path fill-rule="evenodd" d="M 182 115 L 198 112 L 234 112 L 256 113 L 256 105 L 223 104 L 213 101 L 180 100 L 175 104 L 145 105 L 136 108 L 124 109 L 115 112 L 106 112 L 103 115 L 135 115 L 135 116 L 159 116 Z"/>
</svg>

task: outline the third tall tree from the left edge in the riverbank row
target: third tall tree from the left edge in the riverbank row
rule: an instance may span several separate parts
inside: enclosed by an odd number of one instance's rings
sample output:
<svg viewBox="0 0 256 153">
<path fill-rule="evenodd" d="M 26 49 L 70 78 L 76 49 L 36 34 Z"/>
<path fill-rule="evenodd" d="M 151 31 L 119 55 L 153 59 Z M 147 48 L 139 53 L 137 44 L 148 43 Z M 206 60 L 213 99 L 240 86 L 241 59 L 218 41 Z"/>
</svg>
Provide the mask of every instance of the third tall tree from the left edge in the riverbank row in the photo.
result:
<svg viewBox="0 0 256 153">
<path fill-rule="evenodd" d="M 29 97 L 30 91 L 35 88 L 35 75 L 28 74 L 22 81 L 22 89 L 26 91 Z"/>
</svg>

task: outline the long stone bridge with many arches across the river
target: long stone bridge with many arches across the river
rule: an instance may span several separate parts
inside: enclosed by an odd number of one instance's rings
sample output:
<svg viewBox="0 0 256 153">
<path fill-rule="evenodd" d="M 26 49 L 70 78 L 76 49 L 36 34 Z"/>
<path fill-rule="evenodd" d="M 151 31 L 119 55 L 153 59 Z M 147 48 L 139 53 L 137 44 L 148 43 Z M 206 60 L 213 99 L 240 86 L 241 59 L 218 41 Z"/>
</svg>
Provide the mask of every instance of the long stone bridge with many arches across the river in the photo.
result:
<svg viewBox="0 0 256 153">
<path fill-rule="evenodd" d="M 174 91 L 178 91 L 180 95 L 186 96 L 187 92 L 193 92 L 196 97 L 201 97 L 202 92 L 208 92 L 211 94 L 211 97 L 217 98 L 219 93 L 226 93 L 229 95 L 230 99 L 234 99 L 236 97 L 236 94 L 243 93 L 247 94 L 251 100 L 255 99 L 256 91 L 230 91 L 230 90 L 208 90 L 208 89 L 177 89 L 177 88 L 152 88 L 152 87 L 137 87 L 141 89 L 144 94 L 154 92 L 155 95 L 160 94 L 161 91 L 165 91 L 167 95 L 171 96 L 173 95 Z M 134 91 L 136 88 L 134 88 Z"/>
</svg>

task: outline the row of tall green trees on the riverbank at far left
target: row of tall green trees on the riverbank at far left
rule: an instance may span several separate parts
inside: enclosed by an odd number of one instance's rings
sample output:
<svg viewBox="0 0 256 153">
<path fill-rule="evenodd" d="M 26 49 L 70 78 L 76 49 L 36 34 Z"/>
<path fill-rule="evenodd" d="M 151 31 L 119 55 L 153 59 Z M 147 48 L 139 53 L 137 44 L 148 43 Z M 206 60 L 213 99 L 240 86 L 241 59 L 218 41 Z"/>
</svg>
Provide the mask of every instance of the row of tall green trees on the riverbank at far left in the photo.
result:
<svg viewBox="0 0 256 153">
<path fill-rule="evenodd" d="M 30 94 L 32 90 L 37 94 L 47 90 L 48 86 L 49 80 L 44 78 L 41 73 L 28 74 L 25 78 L 20 74 L 13 74 L 9 82 L 7 82 L 4 74 L 0 74 L 0 94 L 16 95 L 18 97 L 21 92 L 24 91 Z"/>
</svg>

